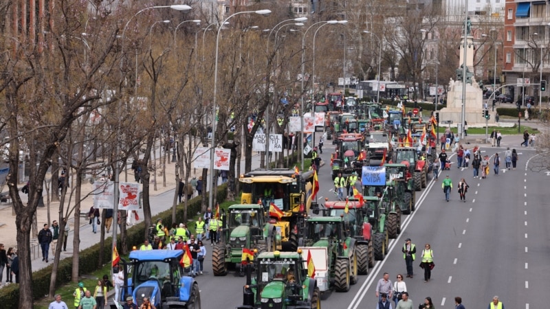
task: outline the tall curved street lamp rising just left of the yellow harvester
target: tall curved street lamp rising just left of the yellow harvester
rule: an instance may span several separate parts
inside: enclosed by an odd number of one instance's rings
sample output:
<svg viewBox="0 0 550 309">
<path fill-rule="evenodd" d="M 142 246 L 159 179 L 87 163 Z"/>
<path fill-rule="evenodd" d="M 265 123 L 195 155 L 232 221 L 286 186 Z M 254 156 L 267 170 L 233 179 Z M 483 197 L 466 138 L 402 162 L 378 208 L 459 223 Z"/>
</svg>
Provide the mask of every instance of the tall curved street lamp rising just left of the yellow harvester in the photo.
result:
<svg viewBox="0 0 550 309">
<path fill-rule="evenodd" d="M 233 16 L 239 15 L 239 14 L 260 14 L 263 16 L 267 16 L 271 14 L 271 10 L 256 10 L 256 11 L 243 11 L 243 12 L 236 12 L 232 15 L 230 15 L 228 18 L 226 18 L 221 25 L 225 25 L 225 23 Z M 213 199 L 214 199 L 214 149 L 216 148 L 216 109 L 217 109 L 217 95 L 218 95 L 218 50 L 219 50 L 219 34 L 221 33 L 221 28 L 218 28 L 218 32 L 216 34 L 216 58 L 214 60 L 214 98 L 212 98 L 212 147 L 210 149 L 210 190 L 208 194 L 208 205 L 210 208 L 213 206 Z M 206 31 L 205 31 L 206 32 Z"/>
</svg>

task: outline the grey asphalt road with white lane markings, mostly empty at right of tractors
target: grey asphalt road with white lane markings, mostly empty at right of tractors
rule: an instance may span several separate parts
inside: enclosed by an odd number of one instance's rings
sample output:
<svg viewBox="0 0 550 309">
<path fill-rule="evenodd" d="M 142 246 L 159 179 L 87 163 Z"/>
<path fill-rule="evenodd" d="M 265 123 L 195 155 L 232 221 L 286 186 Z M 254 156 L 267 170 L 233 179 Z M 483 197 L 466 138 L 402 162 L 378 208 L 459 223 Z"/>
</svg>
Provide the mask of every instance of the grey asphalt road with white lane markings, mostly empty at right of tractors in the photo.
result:
<svg viewBox="0 0 550 309">
<path fill-rule="evenodd" d="M 327 163 L 333 146 L 321 155 Z M 417 211 L 403 216 L 403 231 L 397 240 L 391 240 L 386 259 L 377 262 L 369 275 L 348 293 L 325 293 L 324 308 L 374 308 L 375 287 L 382 273 L 390 273 L 392 281 L 397 273 L 406 274 L 401 253 L 404 239 L 412 238 L 420 252 L 423 244 L 430 243 L 434 251 L 432 279 L 423 282 L 417 253 L 414 279 L 406 278 L 410 299 L 415 306 L 424 297 L 432 297 L 436 307 L 454 307 L 454 297 L 460 296 L 466 308 L 487 308 L 494 295 L 498 295 L 506 308 L 539 308 L 542 306 L 550 274 L 550 220 L 547 198 L 550 176 L 526 170 L 533 150 L 519 148 L 516 141 L 509 146 L 520 152 L 516 170 L 503 171 L 488 179 L 473 179 L 472 170 L 452 168 L 449 174 L 454 183 L 451 201 L 445 203 L 441 180 L 431 181 L 428 187 L 417 192 Z M 505 148 L 482 148 L 486 155 Z M 454 157 L 452 159 L 455 159 Z M 456 159 L 454 160 L 456 161 Z M 504 161 L 504 160 L 503 160 Z M 456 165 L 454 165 L 456 166 Z M 329 165 L 321 168 L 320 202 L 328 197 L 335 200 Z M 459 201 L 456 186 L 461 177 L 470 185 L 467 203 Z M 207 249 L 211 249 L 208 247 Z M 210 256 L 210 254 L 208 254 Z M 203 308 L 234 308 L 242 303 L 245 278 L 237 273 L 213 277 L 211 260 L 205 261 L 204 275 L 197 277 L 201 289 Z"/>
</svg>

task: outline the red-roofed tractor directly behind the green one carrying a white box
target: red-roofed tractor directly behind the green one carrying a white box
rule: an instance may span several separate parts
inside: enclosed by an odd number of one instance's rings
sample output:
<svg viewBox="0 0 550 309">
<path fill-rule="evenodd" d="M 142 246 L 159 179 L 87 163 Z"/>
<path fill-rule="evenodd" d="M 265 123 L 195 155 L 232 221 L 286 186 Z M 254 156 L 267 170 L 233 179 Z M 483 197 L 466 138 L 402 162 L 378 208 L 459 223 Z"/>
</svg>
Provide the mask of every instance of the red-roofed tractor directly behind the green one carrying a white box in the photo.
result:
<svg viewBox="0 0 550 309">
<path fill-rule="evenodd" d="M 357 252 L 357 267 L 360 275 L 367 275 L 369 267 L 374 266 L 373 257 L 373 227 L 369 223 L 369 208 L 359 201 L 327 201 L 323 209 L 314 209 L 314 214 L 322 211 L 323 216 L 342 216 L 349 229 L 349 235 L 355 238 Z M 348 210 L 346 211 L 346 205 Z"/>
</svg>

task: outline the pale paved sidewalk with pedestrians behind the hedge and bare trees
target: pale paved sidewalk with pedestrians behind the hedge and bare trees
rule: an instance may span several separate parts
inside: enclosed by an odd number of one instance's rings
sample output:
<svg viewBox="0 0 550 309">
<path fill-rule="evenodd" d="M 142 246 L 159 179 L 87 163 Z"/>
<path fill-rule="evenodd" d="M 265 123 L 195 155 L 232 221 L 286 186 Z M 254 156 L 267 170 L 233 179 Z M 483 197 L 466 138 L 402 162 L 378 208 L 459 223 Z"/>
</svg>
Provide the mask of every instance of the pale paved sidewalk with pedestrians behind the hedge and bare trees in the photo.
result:
<svg viewBox="0 0 550 309">
<path fill-rule="evenodd" d="M 162 211 L 165 211 L 166 209 L 170 209 L 173 204 L 174 194 L 175 194 L 175 171 L 174 171 L 174 164 L 170 163 L 166 165 L 166 187 L 162 187 L 162 174 L 157 173 L 157 191 L 153 190 L 153 183 L 151 183 L 151 215 L 155 216 L 159 214 Z M 254 154 L 252 155 L 252 170 L 257 169 L 260 167 L 260 155 Z M 241 172 L 244 172 L 245 168 L 245 159 L 241 159 Z M 192 170 L 193 171 L 193 170 Z M 201 176 L 201 169 L 197 169 L 196 175 L 191 172 L 192 176 Z M 239 173 L 239 174 L 240 174 Z M 124 172 L 120 174 L 120 181 L 124 181 Z M 153 176 L 151 175 L 151 179 L 153 179 Z M 128 180 L 133 181 L 133 174 L 129 172 L 128 174 Z M 219 184 L 221 184 L 221 179 L 219 180 Z M 88 192 L 91 192 L 91 184 L 89 182 L 86 182 L 82 186 L 82 195 L 85 196 Z M 208 192 L 208 191 L 207 191 Z M 21 199 L 23 200 L 23 203 L 27 201 L 27 195 L 19 193 L 21 196 Z M 68 198 L 69 194 L 67 194 Z M 71 201 L 71 204 L 74 205 L 74 201 Z M 83 202 L 80 203 L 80 211 L 88 211 L 90 207 L 94 204 L 93 199 L 91 196 L 85 198 Z M 65 207 L 66 208 L 66 207 Z M 58 220 L 58 209 L 59 209 L 59 202 L 50 203 L 50 218 L 51 220 Z M 141 210 L 141 209 L 140 209 Z M 143 221 L 143 212 L 138 211 L 138 214 L 140 216 L 140 220 L 137 222 Z M 37 222 L 38 222 L 38 230 L 43 227 L 44 223 L 47 222 L 47 207 L 39 207 L 36 211 L 37 216 Z M 0 220 L 2 224 L 0 226 L 0 243 L 3 243 L 5 245 L 6 251 L 8 251 L 8 248 L 10 247 L 17 247 L 17 230 L 15 228 L 15 215 L 12 214 L 12 206 L 10 203 L 2 203 L 0 205 Z M 89 220 L 84 217 L 80 217 L 80 251 L 87 249 L 94 244 L 98 244 L 100 242 L 100 233 L 93 233 L 91 225 L 88 224 Z M 69 231 L 69 238 L 67 240 L 67 251 L 61 252 L 61 259 L 67 258 L 72 256 L 73 252 L 73 234 L 74 234 L 74 214 L 69 218 L 69 225 L 70 225 L 70 231 Z M 129 227 L 131 228 L 131 227 Z M 36 236 L 31 235 L 31 246 L 36 243 Z M 49 264 L 53 263 L 53 255 L 52 255 L 52 249 L 50 247 L 50 263 L 46 263 L 42 261 L 42 253 L 41 249 L 38 245 L 35 246 L 35 248 L 31 251 L 31 259 L 32 259 L 32 271 L 38 271 L 42 268 L 47 267 Z M 3 280 L 1 284 L 4 284 L 5 277 L 3 276 Z M 3 286 L 3 285 L 2 285 Z"/>
</svg>

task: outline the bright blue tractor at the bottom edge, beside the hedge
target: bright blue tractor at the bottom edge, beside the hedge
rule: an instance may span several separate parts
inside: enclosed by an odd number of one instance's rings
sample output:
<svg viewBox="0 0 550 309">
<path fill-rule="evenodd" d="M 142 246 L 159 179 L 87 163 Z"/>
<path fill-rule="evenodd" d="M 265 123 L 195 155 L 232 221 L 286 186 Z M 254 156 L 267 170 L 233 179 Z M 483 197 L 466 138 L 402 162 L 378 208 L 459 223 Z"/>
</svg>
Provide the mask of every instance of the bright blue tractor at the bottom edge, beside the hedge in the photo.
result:
<svg viewBox="0 0 550 309">
<path fill-rule="evenodd" d="M 200 309 L 199 285 L 184 275 L 183 255 L 182 250 L 132 251 L 129 262 L 121 259 L 124 286 L 117 299 L 119 304 L 131 296 L 139 307 L 143 298 L 148 297 L 159 309 Z"/>
</svg>

